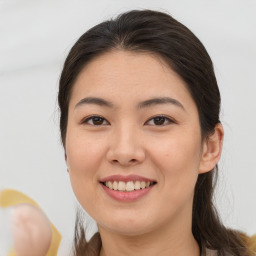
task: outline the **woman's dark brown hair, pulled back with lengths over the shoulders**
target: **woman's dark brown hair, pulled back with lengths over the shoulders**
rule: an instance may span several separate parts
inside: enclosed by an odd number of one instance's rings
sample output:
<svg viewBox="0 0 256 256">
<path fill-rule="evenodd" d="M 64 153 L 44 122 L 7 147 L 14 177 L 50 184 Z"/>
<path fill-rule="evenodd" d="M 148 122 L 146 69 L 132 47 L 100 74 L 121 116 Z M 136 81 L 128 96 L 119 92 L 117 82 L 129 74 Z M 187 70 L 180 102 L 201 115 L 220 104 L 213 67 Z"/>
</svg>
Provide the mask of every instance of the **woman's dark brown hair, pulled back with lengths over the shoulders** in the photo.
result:
<svg viewBox="0 0 256 256">
<path fill-rule="evenodd" d="M 72 86 L 82 68 L 92 59 L 111 50 L 149 52 L 160 56 L 186 82 L 200 118 L 202 138 L 214 131 L 219 121 L 220 93 L 212 61 L 199 39 L 168 14 L 134 10 L 102 22 L 84 33 L 66 58 L 59 85 L 60 129 L 65 147 L 68 106 Z M 213 204 L 218 167 L 200 174 L 195 185 L 192 232 L 202 253 L 215 249 L 219 256 L 231 253 L 247 256 L 240 233 L 221 223 Z M 97 255 L 101 241 L 97 233 L 86 242 L 83 225 L 76 222 L 75 255 Z M 94 252 L 93 252 L 93 250 Z"/>
</svg>

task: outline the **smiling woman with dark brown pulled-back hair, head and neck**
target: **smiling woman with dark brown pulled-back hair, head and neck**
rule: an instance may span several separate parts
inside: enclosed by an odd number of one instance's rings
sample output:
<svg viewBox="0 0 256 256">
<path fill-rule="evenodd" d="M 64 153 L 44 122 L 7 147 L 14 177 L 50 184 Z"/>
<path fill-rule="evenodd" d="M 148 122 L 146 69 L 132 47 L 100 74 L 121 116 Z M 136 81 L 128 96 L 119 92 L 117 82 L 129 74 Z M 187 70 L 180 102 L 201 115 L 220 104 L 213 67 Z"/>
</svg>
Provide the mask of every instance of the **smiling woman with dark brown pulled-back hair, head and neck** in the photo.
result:
<svg viewBox="0 0 256 256">
<path fill-rule="evenodd" d="M 251 255 L 213 205 L 223 128 L 213 65 L 167 14 L 121 14 L 80 37 L 59 86 L 74 193 L 99 233 L 75 255 Z"/>
</svg>

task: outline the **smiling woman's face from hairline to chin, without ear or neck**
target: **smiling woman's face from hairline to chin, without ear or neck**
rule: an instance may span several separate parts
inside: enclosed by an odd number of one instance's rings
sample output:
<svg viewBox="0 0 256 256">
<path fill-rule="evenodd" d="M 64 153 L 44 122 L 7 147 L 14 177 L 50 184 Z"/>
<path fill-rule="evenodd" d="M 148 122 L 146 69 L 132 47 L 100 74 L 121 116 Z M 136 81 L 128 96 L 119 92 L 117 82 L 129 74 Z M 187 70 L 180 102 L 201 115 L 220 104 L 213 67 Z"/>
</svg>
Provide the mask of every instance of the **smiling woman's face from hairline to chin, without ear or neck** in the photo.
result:
<svg viewBox="0 0 256 256">
<path fill-rule="evenodd" d="M 195 102 L 160 58 L 112 51 L 79 74 L 66 162 L 99 229 L 138 235 L 189 226 L 202 148 Z"/>
</svg>

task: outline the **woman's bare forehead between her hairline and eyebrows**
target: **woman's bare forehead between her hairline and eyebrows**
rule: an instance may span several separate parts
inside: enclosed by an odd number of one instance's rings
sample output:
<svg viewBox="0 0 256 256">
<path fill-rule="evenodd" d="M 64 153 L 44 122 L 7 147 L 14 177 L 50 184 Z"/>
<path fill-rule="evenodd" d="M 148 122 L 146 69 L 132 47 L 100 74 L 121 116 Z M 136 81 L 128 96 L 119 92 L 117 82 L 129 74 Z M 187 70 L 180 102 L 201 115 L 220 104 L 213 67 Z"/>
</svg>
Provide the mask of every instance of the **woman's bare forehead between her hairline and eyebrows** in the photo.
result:
<svg viewBox="0 0 256 256">
<path fill-rule="evenodd" d="M 123 50 L 107 52 L 89 62 L 74 84 L 71 102 L 85 96 L 145 100 L 170 96 L 193 100 L 185 82 L 159 56 Z M 74 103 L 73 103 L 74 104 Z"/>
</svg>

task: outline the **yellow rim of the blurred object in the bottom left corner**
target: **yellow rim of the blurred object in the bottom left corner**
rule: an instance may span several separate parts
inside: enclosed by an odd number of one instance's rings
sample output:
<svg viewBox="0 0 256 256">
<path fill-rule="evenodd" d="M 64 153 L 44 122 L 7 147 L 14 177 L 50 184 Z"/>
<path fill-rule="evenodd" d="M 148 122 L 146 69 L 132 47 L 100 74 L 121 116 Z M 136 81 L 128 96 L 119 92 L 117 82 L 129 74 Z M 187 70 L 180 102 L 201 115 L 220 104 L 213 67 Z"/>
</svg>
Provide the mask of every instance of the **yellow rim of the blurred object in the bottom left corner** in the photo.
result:
<svg viewBox="0 0 256 256">
<path fill-rule="evenodd" d="M 16 191 L 13 189 L 6 189 L 3 191 L 0 191 L 0 207 L 6 208 L 6 207 L 14 206 L 17 204 L 23 204 L 23 203 L 32 204 L 38 207 L 39 209 L 41 209 L 40 206 L 34 200 L 32 200 L 30 197 L 28 197 L 27 195 L 19 191 Z M 51 228 L 52 228 L 52 241 L 46 256 L 56 256 L 59 249 L 60 241 L 61 241 L 61 234 L 52 223 L 51 223 Z M 15 253 L 11 251 L 9 256 L 15 256 Z"/>
</svg>

